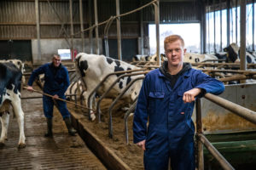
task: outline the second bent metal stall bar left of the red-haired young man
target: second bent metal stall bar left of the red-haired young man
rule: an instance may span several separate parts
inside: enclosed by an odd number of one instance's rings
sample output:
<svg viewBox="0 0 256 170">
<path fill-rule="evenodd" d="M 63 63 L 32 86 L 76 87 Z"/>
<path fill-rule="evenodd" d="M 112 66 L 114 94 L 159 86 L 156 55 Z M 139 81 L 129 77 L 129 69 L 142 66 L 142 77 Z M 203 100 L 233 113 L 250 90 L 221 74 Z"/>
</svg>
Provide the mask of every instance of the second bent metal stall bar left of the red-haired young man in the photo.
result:
<svg viewBox="0 0 256 170">
<path fill-rule="evenodd" d="M 108 115 L 109 115 L 109 121 L 108 121 L 108 136 L 110 138 L 113 138 L 113 126 L 112 126 L 112 109 L 113 106 L 117 103 L 117 101 L 119 101 L 119 99 L 121 99 L 121 97 L 125 94 L 125 92 L 131 88 L 131 85 L 134 82 L 137 82 L 138 80 L 144 79 L 145 77 L 137 77 L 135 79 L 133 79 L 131 82 L 129 82 L 129 84 L 125 87 L 125 89 L 121 92 L 121 94 L 119 94 L 112 102 L 112 104 L 109 106 L 108 108 Z"/>
</svg>

